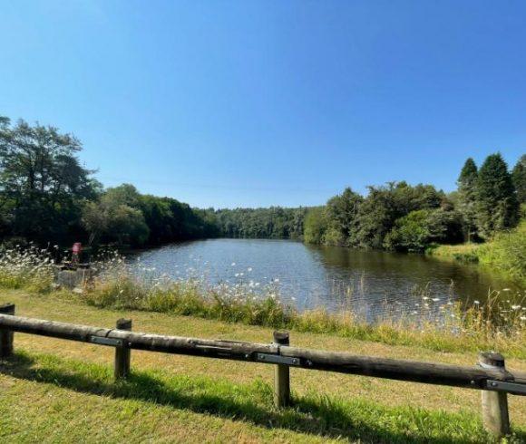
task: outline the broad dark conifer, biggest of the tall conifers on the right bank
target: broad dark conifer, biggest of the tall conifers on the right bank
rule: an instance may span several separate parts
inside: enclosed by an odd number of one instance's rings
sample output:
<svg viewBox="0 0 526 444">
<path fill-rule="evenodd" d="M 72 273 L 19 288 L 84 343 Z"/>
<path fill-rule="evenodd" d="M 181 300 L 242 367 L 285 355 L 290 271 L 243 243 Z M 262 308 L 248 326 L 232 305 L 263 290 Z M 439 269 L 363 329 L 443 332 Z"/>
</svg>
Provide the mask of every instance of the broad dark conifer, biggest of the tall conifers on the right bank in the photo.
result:
<svg viewBox="0 0 526 444">
<path fill-rule="evenodd" d="M 488 156 L 477 179 L 477 224 L 484 238 L 513 227 L 519 205 L 508 166 L 500 153 Z"/>
</svg>

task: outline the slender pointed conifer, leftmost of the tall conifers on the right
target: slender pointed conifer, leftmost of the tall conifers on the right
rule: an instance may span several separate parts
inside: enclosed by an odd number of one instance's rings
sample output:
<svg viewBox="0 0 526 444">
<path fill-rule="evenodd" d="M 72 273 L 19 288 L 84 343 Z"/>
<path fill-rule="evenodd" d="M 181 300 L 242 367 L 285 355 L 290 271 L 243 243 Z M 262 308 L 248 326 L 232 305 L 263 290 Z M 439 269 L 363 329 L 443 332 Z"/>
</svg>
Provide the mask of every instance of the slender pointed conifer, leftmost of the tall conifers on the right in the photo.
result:
<svg viewBox="0 0 526 444">
<path fill-rule="evenodd" d="M 471 242 L 477 233 L 477 179 L 479 172 L 472 158 L 465 161 L 457 180 L 457 208 L 463 217 L 464 238 Z"/>
</svg>

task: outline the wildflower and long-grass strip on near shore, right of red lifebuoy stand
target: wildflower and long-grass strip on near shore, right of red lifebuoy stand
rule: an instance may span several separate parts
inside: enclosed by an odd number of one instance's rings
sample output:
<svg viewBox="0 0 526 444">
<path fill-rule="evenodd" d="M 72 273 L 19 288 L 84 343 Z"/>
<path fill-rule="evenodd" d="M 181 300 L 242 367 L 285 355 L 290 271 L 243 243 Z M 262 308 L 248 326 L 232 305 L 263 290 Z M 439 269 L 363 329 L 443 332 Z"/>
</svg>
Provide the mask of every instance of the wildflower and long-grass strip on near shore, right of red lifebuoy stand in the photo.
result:
<svg viewBox="0 0 526 444">
<path fill-rule="evenodd" d="M 141 284 L 129 275 L 117 275 L 93 285 L 83 294 L 61 296 L 74 297 L 101 308 L 180 314 L 296 332 L 330 333 L 377 343 L 422 346 L 442 352 L 496 350 L 526 358 L 526 311 L 519 304 L 502 300 L 499 294 L 493 295 L 485 305 L 473 304 L 464 311 L 460 305 L 443 303 L 442 318 L 425 320 L 425 311 L 429 310 L 429 304 L 433 304 L 433 298 L 424 293 L 419 306 L 424 321 L 395 320 L 387 315 L 372 324 L 351 311 L 329 314 L 319 309 L 300 313 L 281 304 L 274 294 L 261 297 L 242 288 L 234 291 L 230 294 L 223 287 L 203 291 L 200 283 L 194 281 L 151 286 Z M 495 310 L 502 311 L 501 324 L 492 321 L 491 312 Z"/>
</svg>

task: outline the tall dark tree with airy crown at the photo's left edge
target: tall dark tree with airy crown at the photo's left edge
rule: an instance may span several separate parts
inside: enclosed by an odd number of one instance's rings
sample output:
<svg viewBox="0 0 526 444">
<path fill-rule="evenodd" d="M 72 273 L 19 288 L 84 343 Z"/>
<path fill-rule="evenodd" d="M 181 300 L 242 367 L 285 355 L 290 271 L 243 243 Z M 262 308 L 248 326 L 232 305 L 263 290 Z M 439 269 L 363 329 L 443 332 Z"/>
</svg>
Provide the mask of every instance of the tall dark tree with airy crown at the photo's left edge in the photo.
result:
<svg viewBox="0 0 526 444">
<path fill-rule="evenodd" d="M 0 210 L 8 236 L 41 242 L 82 233 L 81 208 L 100 184 L 84 169 L 82 144 L 54 127 L 0 120 Z"/>
</svg>

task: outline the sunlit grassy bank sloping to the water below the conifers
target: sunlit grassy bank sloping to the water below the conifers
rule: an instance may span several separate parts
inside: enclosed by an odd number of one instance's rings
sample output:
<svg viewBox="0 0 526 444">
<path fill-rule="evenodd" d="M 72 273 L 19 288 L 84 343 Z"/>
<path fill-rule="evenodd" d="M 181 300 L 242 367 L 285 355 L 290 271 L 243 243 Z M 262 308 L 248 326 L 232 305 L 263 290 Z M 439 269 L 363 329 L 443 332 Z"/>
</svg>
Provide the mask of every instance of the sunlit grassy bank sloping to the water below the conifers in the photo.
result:
<svg viewBox="0 0 526 444">
<path fill-rule="evenodd" d="M 526 285 L 526 220 L 510 232 L 502 232 L 485 244 L 436 246 L 432 256 L 490 265 Z"/>
</svg>

